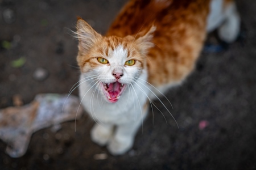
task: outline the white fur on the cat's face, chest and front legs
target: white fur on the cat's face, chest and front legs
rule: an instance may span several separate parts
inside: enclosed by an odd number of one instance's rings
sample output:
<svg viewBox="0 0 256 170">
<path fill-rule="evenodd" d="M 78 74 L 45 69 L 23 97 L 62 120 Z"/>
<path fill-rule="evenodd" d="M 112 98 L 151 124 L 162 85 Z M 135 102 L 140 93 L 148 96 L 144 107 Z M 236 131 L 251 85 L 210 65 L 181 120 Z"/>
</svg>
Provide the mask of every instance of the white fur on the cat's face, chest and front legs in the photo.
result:
<svg viewBox="0 0 256 170">
<path fill-rule="evenodd" d="M 147 101 L 146 94 L 148 94 L 148 88 L 145 87 L 147 84 L 143 81 L 147 79 L 146 70 L 142 70 L 141 73 L 136 66 L 125 66 L 126 58 L 127 51 L 119 45 L 106 58 L 110 65 L 102 65 L 94 71 L 82 73 L 80 76 L 81 104 L 97 122 L 91 131 L 92 140 L 101 146 L 108 144 L 109 151 L 113 155 L 123 154 L 133 146 L 134 135 L 146 117 L 146 110 L 143 109 Z M 126 86 L 126 90 L 123 91 L 117 103 L 109 103 L 101 92 L 101 87 L 96 88 L 97 84 L 94 86 L 93 84 L 97 80 L 105 83 L 113 82 L 115 78 L 111 73 L 116 68 L 123 69 L 124 75 L 120 82 L 132 85 Z M 98 75 L 98 78 L 88 80 L 93 75 Z M 142 80 L 136 80 L 135 76 Z M 132 80 L 137 83 L 141 82 L 138 83 L 140 87 Z M 117 126 L 117 129 L 113 134 L 114 126 Z"/>
</svg>

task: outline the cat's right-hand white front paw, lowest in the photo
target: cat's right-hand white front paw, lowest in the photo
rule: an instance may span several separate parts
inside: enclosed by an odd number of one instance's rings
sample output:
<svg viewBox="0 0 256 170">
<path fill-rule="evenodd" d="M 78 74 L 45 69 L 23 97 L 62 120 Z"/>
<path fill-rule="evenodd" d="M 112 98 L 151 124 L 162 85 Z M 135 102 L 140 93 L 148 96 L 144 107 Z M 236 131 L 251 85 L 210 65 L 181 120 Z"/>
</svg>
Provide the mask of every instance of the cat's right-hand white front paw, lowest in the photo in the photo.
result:
<svg viewBox="0 0 256 170">
<path fill-rule="evenodd" d="M 108 145 L 108 150 L 112 155 L 122 155 L 133 146 L 133 137 L 123 137 L 122 139 L 112 138 Z"/>
</svg>

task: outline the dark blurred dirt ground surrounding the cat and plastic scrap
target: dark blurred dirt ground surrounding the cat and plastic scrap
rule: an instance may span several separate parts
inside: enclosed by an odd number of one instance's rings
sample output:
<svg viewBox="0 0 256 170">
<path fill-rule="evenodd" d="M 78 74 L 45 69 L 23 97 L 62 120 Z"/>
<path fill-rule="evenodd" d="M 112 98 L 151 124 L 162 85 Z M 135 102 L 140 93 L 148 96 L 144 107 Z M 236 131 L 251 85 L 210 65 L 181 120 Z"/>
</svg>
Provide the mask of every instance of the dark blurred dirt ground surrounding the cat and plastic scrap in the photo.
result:
<svg viewBox="0 0 256 170">
<path fill-rule="evenodd" d="M 67 94 L 79 79 L 76 16 L 104 33 L 124 3 L 0 0 L 0 108 L 13 106 L 17 94 L 24 104 L 40 93 Z M 241 39 L 219 52 L 205 50 L 184 84 L 166 95 L 179 129 L 155 101 L 168 125 L 156 109 L 153 125 L 150 111 L 133 149 L 112 156 L 90 141 L 93 121 L 85 114 L 76 131 L 71 121 L 56 133 L 34 133 L 21 158 L 10 158 L 0 141 L 0 169 L 256 169 L 256 2 L 237 4 Z M 38 69 L 46 73 L 42 79 Z M 200 122 L 208 126 L 200 129 Z"/>
</svg>

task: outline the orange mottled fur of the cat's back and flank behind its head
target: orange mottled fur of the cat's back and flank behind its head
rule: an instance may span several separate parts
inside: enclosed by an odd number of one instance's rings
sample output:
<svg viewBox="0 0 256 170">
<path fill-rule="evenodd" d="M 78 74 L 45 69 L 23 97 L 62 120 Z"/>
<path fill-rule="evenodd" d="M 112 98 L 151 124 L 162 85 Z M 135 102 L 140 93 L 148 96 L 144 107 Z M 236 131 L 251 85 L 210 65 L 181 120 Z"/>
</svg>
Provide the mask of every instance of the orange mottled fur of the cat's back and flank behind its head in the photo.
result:
<svg viewBox="0 0 256 170">
<path fill-rule="evenodd" d="M 147 55 L 148 82 L 180 82 L 193 69 L 205 39 L 210 0 L 133 0 L 123 7 L 107 36 L 136 36 L 156 26 Z"/>
</svg>

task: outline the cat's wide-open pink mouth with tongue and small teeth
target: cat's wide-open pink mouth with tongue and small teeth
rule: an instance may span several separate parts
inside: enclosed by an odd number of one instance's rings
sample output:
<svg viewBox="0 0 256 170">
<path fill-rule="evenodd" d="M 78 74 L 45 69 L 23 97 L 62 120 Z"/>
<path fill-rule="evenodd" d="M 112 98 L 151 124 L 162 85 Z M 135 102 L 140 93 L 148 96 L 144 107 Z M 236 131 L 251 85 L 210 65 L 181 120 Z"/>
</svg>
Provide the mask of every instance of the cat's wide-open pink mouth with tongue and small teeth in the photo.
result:
<svg viewBox="0 0 256 170">
<path fill-rule="evenodd" d="M 101 83 L 101 88 L 106 96 L 106 99 L 110 103 L 116 103 L 119 97 L 122 95 L 122 92 L 125 90 L 126 84 L 119 82 L 113 83 Z"/>
</svg>

